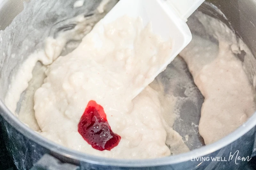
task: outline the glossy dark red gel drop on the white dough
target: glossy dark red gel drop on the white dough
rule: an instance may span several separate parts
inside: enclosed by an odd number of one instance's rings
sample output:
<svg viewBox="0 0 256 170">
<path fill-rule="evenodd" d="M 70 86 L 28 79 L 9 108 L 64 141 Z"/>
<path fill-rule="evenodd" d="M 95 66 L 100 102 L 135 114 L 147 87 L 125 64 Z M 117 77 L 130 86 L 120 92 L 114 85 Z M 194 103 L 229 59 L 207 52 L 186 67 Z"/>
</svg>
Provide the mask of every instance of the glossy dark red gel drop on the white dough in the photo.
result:
<svg viewBox="0 0 256 170">
<path fill-rule="evenodd" d="M 94 100 L 88 102 L 78 123 L 78 132 L 88 144 L 99 151 L 110 151 L 121 139 L 111 130 L 103 107 Z"/>
</svg>

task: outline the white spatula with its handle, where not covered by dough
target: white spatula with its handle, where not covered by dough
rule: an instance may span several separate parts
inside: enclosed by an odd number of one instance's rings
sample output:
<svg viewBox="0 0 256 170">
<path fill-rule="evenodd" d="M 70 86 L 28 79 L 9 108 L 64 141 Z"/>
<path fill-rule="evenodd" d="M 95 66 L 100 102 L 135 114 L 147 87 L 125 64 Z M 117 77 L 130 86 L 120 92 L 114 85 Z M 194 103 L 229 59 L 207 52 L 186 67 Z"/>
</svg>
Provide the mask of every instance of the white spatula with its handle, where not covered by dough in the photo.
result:
<svg viewBox="0 0 256 170">
<path fill-rule="evenodd" d="M 108 24 L 124 15 L 141 17 L 144 26 L 152 22 L 153 33 L 160 35 L 164 41 L 172 39 L 172 54 L 156 72 L 155 78 L 191 41 L 192 35 L 186 21 L 203 2 L 204 0 L 120 0 L 101 22 Z M 141 85 L 133 96 L 137 96 L 149 83 L 151 82 Z"/>
</svg>

